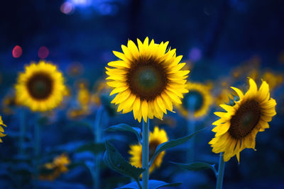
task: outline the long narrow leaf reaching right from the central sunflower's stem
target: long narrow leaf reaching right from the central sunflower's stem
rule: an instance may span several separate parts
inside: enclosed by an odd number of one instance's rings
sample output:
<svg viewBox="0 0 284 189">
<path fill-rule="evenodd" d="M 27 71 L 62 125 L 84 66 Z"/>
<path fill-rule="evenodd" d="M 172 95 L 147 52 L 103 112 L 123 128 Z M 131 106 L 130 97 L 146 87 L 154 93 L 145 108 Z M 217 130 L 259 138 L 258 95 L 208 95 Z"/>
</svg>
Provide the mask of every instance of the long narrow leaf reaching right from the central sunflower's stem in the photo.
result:
<svg viewBox="0 0 284 189">
<path fill-rule="evenodd" d="M 203 129 L 204 130 L 204 129 Z M 152 166 L 155 158 L 158 156 L 158 154 L 160 154 L 160 152 L 162 151 L 165 151 L 166 149 L 169 149 L 169 148 L 173 148 L 173 147 L 176 147 L 182 143 L 185 143 L 187 142 L 187 140 L 189 140 L 190 138 L 192 138 L 195 134 L 201 132 L 202 130 L 198 130 L 197 132 L 194 132 L 192 134 L 189 134 L 185 137 L 181 137 L 181 138 L 178 138 L 178 139 L 173 139 L 173 140 L 170 140 L 168 142 L 164 142 L 163 144 L 160 144 L 158 145 L 157 149 L 155 149 L 155 153 L 153 154 L 150 162 L 149 162 L 149 167 Z"/>
</svg>

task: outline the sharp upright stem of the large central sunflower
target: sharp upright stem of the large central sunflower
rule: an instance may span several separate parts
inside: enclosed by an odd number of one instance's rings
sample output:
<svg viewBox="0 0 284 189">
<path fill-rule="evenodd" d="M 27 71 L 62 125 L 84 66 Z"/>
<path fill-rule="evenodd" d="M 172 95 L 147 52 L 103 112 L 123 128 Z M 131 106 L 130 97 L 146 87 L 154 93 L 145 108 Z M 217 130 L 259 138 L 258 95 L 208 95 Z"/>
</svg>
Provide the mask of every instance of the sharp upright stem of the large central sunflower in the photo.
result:
<svg viewBox="0 0 284 189">
<path fill-rule="evenodd" d="M 143 189 L 148 189 L 149 179 L 149 118 L 147 119 L 147 123 L 143 120 L 142 125 L 142 168 L 145 168 L 142 173 Z"/>
</svg>

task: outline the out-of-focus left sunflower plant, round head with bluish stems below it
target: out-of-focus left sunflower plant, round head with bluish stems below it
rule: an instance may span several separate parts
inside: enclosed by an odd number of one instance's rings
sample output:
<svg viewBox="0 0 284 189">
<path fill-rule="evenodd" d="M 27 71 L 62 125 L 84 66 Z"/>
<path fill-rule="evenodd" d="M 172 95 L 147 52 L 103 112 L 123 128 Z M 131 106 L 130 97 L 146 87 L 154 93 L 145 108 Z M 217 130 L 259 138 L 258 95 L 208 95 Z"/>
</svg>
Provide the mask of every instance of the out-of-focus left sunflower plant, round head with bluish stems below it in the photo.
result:
<svg viewBox="0 0 284 189">
<path fill-rule="evenodd" d="M 40 113 L 53 110 L 60 105 L 65 96 L 65 84 L 62 73 L 58 67 L 51 62 L 31 62 L 25 67 L 25 71 L 18 74 L 15 85 L 16 101 L 20 105 L 28 107 L 36 113 L 34 119 L 35 141 L 34 144 L 34 178 L 38 179 L 38 164 L 40 161 Z M 21 110 L 21 117 L 24 117 L 24 110 Z M 20 122 L 20 131 L 24 132 L 24 118 Z M 21 134 L 23 135 L 23 134 Z M 22 136 L 24 137 L 24 136 Z M 23 139 L 21 139 L 23 142 Z M 20 144 L 21 146 L 23 144 Z"/>
</svg>

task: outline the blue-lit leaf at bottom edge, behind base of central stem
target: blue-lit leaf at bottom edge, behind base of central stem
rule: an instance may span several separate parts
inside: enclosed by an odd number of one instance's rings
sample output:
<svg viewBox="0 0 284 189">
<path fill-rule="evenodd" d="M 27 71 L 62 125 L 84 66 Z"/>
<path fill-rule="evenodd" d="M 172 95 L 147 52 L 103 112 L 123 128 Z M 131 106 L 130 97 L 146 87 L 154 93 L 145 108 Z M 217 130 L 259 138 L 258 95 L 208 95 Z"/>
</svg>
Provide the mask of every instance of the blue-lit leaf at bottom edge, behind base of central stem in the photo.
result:
<svg viewBox="0 0 284 189">
<path fill-rule="evenodd" d="M 142 182 L 140 182 L 141 185 L 142 185 Z M 174 186 L 178 186 L 178 185 L 181 185 L 181 183 L 165 183 L 163 181 L 156 181 L 156 180 L 149 180 L 148 181 L 148 188 L 161 188 L 161 187 L 174 187 Z M 117 189 L 139 189 L 139 186 L 136 182 L 133 182 L 133 183 L 129 183 L 127 185 L 124 185 L 120 188 L 117 188 Z"/>
</svg>

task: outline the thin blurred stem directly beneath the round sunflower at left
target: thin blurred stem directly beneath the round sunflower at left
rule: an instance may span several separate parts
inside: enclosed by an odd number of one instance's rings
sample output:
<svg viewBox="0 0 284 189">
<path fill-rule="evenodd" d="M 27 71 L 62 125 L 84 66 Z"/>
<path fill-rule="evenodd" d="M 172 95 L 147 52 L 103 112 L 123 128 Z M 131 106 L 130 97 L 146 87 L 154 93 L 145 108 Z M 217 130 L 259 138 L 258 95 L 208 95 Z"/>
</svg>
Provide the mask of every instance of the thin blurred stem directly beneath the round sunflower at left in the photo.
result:
<svg viewBox="0 0 284 189">
<path fill-rule="evenodd" d="M 38 166 L 39 166 L 39 158 L 40 158 L 40 124 L 38 122 L 39 115 L 35 116 L 35 125 L 34 125 L 34 153 L 35 153 L 35 181 L 38 181 Z M 36 186 L 35 186 L 36 188 Z"/>
</svg>

